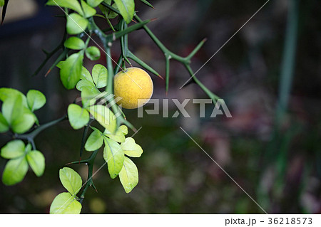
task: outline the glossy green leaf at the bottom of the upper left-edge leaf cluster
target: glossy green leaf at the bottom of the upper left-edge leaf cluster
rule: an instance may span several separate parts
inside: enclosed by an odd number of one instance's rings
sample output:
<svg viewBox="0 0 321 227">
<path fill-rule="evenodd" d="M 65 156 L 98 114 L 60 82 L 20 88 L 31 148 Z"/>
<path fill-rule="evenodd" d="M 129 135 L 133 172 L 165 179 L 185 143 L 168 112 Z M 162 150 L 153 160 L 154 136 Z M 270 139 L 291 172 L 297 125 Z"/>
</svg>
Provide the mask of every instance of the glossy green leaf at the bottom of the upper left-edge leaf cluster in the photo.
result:
<svg viewBox="0 0 321 227">
<path fill-rule="evenodd" d="M 21 116 L 17 117 L 11 122 L 11 129 L 13 132 L 23 134 L 31 129 L 36 121 L 36 115 L 31 110 L 23 107 Z"/>
</svg>

